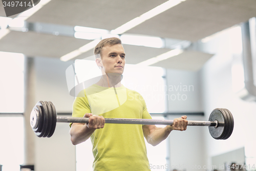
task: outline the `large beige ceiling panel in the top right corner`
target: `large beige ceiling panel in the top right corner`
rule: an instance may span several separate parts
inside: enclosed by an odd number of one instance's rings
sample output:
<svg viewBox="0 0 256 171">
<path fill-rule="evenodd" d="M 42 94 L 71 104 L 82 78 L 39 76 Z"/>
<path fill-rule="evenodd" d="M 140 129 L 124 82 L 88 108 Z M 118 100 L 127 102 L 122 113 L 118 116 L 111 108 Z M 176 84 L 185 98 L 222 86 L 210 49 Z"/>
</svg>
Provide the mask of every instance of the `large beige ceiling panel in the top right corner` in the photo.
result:
<svg viewBox="0 0 256 171">
<path fill-rule="evenodd" d="M 185 1 L 127 33 L 197 41 L 256 16 L 256 1 L 224 2 Z"/>
</svg>

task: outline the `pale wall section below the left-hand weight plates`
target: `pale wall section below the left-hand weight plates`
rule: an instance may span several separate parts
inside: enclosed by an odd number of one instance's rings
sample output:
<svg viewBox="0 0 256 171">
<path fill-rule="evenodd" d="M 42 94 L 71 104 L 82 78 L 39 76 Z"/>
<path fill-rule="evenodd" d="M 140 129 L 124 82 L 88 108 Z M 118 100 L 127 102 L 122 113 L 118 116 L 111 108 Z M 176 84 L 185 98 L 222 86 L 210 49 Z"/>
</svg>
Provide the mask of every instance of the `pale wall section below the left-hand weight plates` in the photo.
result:
<svg viewBox="0 0 256 171">
<path fill-rule="evenodd" d="M 35 170 L 76 170 L 75 145 L 70 141 L 68 124 L 57 123 L 50 138 L 36 137 Z"/>
</svg>

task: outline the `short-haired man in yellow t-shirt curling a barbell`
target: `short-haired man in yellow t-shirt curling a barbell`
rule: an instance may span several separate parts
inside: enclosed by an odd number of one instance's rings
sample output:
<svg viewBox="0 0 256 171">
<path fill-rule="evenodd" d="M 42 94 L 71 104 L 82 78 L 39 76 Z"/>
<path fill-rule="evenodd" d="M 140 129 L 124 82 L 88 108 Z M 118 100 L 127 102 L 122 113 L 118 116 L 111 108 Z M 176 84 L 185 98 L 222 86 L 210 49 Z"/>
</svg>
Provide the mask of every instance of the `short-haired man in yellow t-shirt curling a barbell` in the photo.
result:
<svg viewBox="0 0 256 171">
<path fill-rule="evenodd" d="M 71 141 L 75 145 L 91 138 L 94 170 L 150 170 L 144 137 L 148 143 L 157 145 L 172 130 L 186 130 L 186 116 L 174 119 L 174 124 L 165 128 L 154 125 L 104 125 L 104 118 L 152 117 L 147 112 L 142 96 L 121 84 L 125 66 L 121 40 L 114 37 L 101 40 L 94 54 L 100 54 L 96 64 L 101 69 L 102 78 L 81 91 L 74 101 L 72 116 L 90 119 L 89 124 L 71 125 Z"/>
</svg>

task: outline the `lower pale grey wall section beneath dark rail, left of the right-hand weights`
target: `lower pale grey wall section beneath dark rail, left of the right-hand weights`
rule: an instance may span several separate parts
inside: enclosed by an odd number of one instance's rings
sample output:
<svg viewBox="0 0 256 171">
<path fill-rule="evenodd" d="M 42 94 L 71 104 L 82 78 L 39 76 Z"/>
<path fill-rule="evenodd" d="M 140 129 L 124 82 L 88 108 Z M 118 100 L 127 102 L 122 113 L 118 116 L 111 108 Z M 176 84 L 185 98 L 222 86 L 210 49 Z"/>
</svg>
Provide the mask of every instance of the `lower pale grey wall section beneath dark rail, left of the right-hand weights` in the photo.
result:
<svg viewBox="0 0 256 171">
<path fill-rule="evenodd" d="M 179 116 L 171 116 L 174 119 Z M 203 120 L 203 116 L 188 116 L 189 120 Z M 206 165 L 204 130 L 207 127 L 187 127 L 186 131 L 172 131 L 170 138 L 170 165 L 178 170 L 201 170 Z M 207 135 L 208 136 L 208 135 Z M 201 167 L 201 169 L 200 169 Z"/>
</svg>

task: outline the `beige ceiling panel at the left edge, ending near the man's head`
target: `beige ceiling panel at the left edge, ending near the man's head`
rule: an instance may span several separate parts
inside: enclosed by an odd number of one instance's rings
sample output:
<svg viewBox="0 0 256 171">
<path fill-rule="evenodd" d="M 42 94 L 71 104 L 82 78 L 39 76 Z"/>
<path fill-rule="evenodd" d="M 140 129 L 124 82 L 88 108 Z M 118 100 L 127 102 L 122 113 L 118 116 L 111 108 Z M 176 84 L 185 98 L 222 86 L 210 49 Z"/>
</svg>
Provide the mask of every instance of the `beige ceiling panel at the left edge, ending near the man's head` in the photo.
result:
<svg viewBox="0 0 256 171">
<path fill-rule="evenodd" d="M 31 57 L 60 58 L 89 42 L 73 37 L 12 31 L 1 39 L 0 51 L 23 53 Z"/>
</svg>

